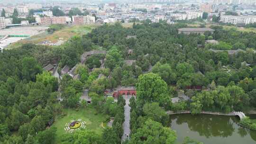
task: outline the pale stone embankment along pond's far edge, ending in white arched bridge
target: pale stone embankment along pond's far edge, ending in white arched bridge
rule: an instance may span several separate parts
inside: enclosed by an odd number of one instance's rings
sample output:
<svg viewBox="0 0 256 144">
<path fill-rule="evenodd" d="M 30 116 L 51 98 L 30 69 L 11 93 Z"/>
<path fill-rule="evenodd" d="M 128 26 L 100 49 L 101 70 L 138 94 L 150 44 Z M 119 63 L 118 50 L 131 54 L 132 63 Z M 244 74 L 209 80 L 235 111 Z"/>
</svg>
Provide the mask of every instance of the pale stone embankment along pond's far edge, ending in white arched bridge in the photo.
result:
<svg viewBox="0 0 256 144">
<path fill-rule="evenodd" d="M 174 115 L 174 114 L 186 114 L 191 113 L 191 111 L 180 111 L 180 112 L 174 112 L 174 111 L 167 111 L 168 115 Z M 210 112 L 210 111 L 201 111 L 201 114 L 210 114 L 210 115 L 220 115 L 220 116 L 238 116 L 240 120 L 246 117 L 246 115 L 241 111 L 234 111 L 231 113 L 221 113 L 221 112 Z"/>
</svg>

